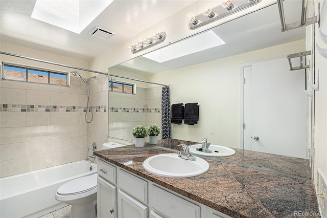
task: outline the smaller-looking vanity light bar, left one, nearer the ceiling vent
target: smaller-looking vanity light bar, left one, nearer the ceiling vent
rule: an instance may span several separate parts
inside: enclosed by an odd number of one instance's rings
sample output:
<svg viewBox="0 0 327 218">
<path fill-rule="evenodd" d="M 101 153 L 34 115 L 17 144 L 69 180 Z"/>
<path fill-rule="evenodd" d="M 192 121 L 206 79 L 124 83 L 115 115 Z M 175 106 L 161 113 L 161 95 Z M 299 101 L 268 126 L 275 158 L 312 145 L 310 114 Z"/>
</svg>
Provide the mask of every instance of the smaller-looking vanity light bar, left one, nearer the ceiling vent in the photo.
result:
<svg viewBox="0 0 327 218">
<path fill-rule="evenodd" d="M 165 41 L 166 36 L 166 32 L 153 32 L 150 37 L 143 37 L 142 40 L 135 41 L 133 45 L 127 44 L 126 47 L 135 54 Z"/>
</svg>

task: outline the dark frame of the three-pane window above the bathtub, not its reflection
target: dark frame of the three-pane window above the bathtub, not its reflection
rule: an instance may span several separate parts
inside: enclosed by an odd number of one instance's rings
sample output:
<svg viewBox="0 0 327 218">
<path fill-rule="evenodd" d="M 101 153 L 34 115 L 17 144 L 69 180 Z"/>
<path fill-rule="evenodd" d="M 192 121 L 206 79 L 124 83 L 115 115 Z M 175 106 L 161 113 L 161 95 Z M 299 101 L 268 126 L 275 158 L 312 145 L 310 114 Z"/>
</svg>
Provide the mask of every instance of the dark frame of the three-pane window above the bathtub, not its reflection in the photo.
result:
<svg viewBox="0 0 327 218">
<path fill-rule="evenodd" d="M 25 69 L 26 71 L 26 80 L 15 80 L 15 79 L 6 79 L 5 78 L 5 67 L 12 67 L 12 68 L 22 68 Z M 48 82 L 47 83 L 43 83 L 43 82 L 34 82 L 34 81 L 29 81 L 28 78 L 28 74 L 33 74 L 33 73 L 29 73 L 29 71 L 40 71 L 43 73 L 47 73 L 48 74 Z M 50 83 L 51 81 L 51 74 L 59 74 L 59 75 L 65 75 L 66 76 L 66 84 L 54 84 L 54 83 Z M 2 66 L 1 66 L 1 80 L 3 81 L 15 81 L 15 82 L 26 82 L 26 83 L 34 83 L 34 84 L 45 84 L 45 85 L 59 85 L 59 86 L 70 86 L 70 77 L 69 77 L 69 73 L 67 72 L 63 72 L 63 71 L 57 71 L 57 70 L 50 70 L 50 69 L 46 69 L 46 68 L 39 68 L 39 67 L 33 67 L 33 66 L 27 66 L 24 64 L 19 64 L 19 63 L 12 63 L 12 62 L 5 62 L 2 61 Z"/>
</svg>

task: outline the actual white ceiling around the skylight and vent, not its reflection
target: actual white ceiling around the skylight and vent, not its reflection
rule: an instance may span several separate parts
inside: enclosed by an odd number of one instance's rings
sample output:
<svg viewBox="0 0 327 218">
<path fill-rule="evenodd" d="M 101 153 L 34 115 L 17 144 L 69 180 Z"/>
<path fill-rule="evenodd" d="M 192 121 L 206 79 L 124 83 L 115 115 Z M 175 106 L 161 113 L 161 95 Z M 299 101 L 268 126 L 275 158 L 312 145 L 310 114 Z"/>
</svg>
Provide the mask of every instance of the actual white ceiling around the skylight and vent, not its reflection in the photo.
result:
<svg viewBox="0 0 327 218">
<path fill-rule="evenodd" d="M 94 4 L 97 1 L 99 0 L 92 0 Z M 80 34 L 31 18 L 35 2 L 36 0 L 0 0 L 0 40 L 89 60 L 196 1 L 114 0 Z M 96 26 L 115 35 L 110 40 L 89 35 Z"/>
</svg>

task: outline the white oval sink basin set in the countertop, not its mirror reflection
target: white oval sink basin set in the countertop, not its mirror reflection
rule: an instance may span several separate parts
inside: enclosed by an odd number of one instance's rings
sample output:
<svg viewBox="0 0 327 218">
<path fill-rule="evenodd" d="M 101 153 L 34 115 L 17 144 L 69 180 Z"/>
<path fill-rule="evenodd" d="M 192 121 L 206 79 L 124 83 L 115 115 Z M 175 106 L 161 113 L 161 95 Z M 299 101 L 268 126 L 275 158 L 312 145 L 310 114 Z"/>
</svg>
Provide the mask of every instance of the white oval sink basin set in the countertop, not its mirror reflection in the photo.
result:
<svg viewBox="0 0 327 218">
<path fill-rule="evenodd" d="M 193 177 L 208 171 L 209 164 L 199 157 L 191 161 L 179 158 L 177 154 L 161 154 L 147 158 L 143 167 L 162 177 Z"/>
</svg>

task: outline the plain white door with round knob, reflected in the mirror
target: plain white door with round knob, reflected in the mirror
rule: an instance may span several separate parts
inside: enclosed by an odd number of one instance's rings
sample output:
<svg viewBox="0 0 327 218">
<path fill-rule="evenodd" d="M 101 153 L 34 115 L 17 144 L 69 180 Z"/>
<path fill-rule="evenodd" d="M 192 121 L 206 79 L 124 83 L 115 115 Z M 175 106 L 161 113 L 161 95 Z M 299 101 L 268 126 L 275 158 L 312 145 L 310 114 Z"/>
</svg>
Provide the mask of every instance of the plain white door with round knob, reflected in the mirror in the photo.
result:
<svg viewBox="0 0 327 218">
<path fill-rule="evenodd" d="M 244 149 L 307 158 L 305 71 L 286 57 L 243 68 Z"/>
</svg>

